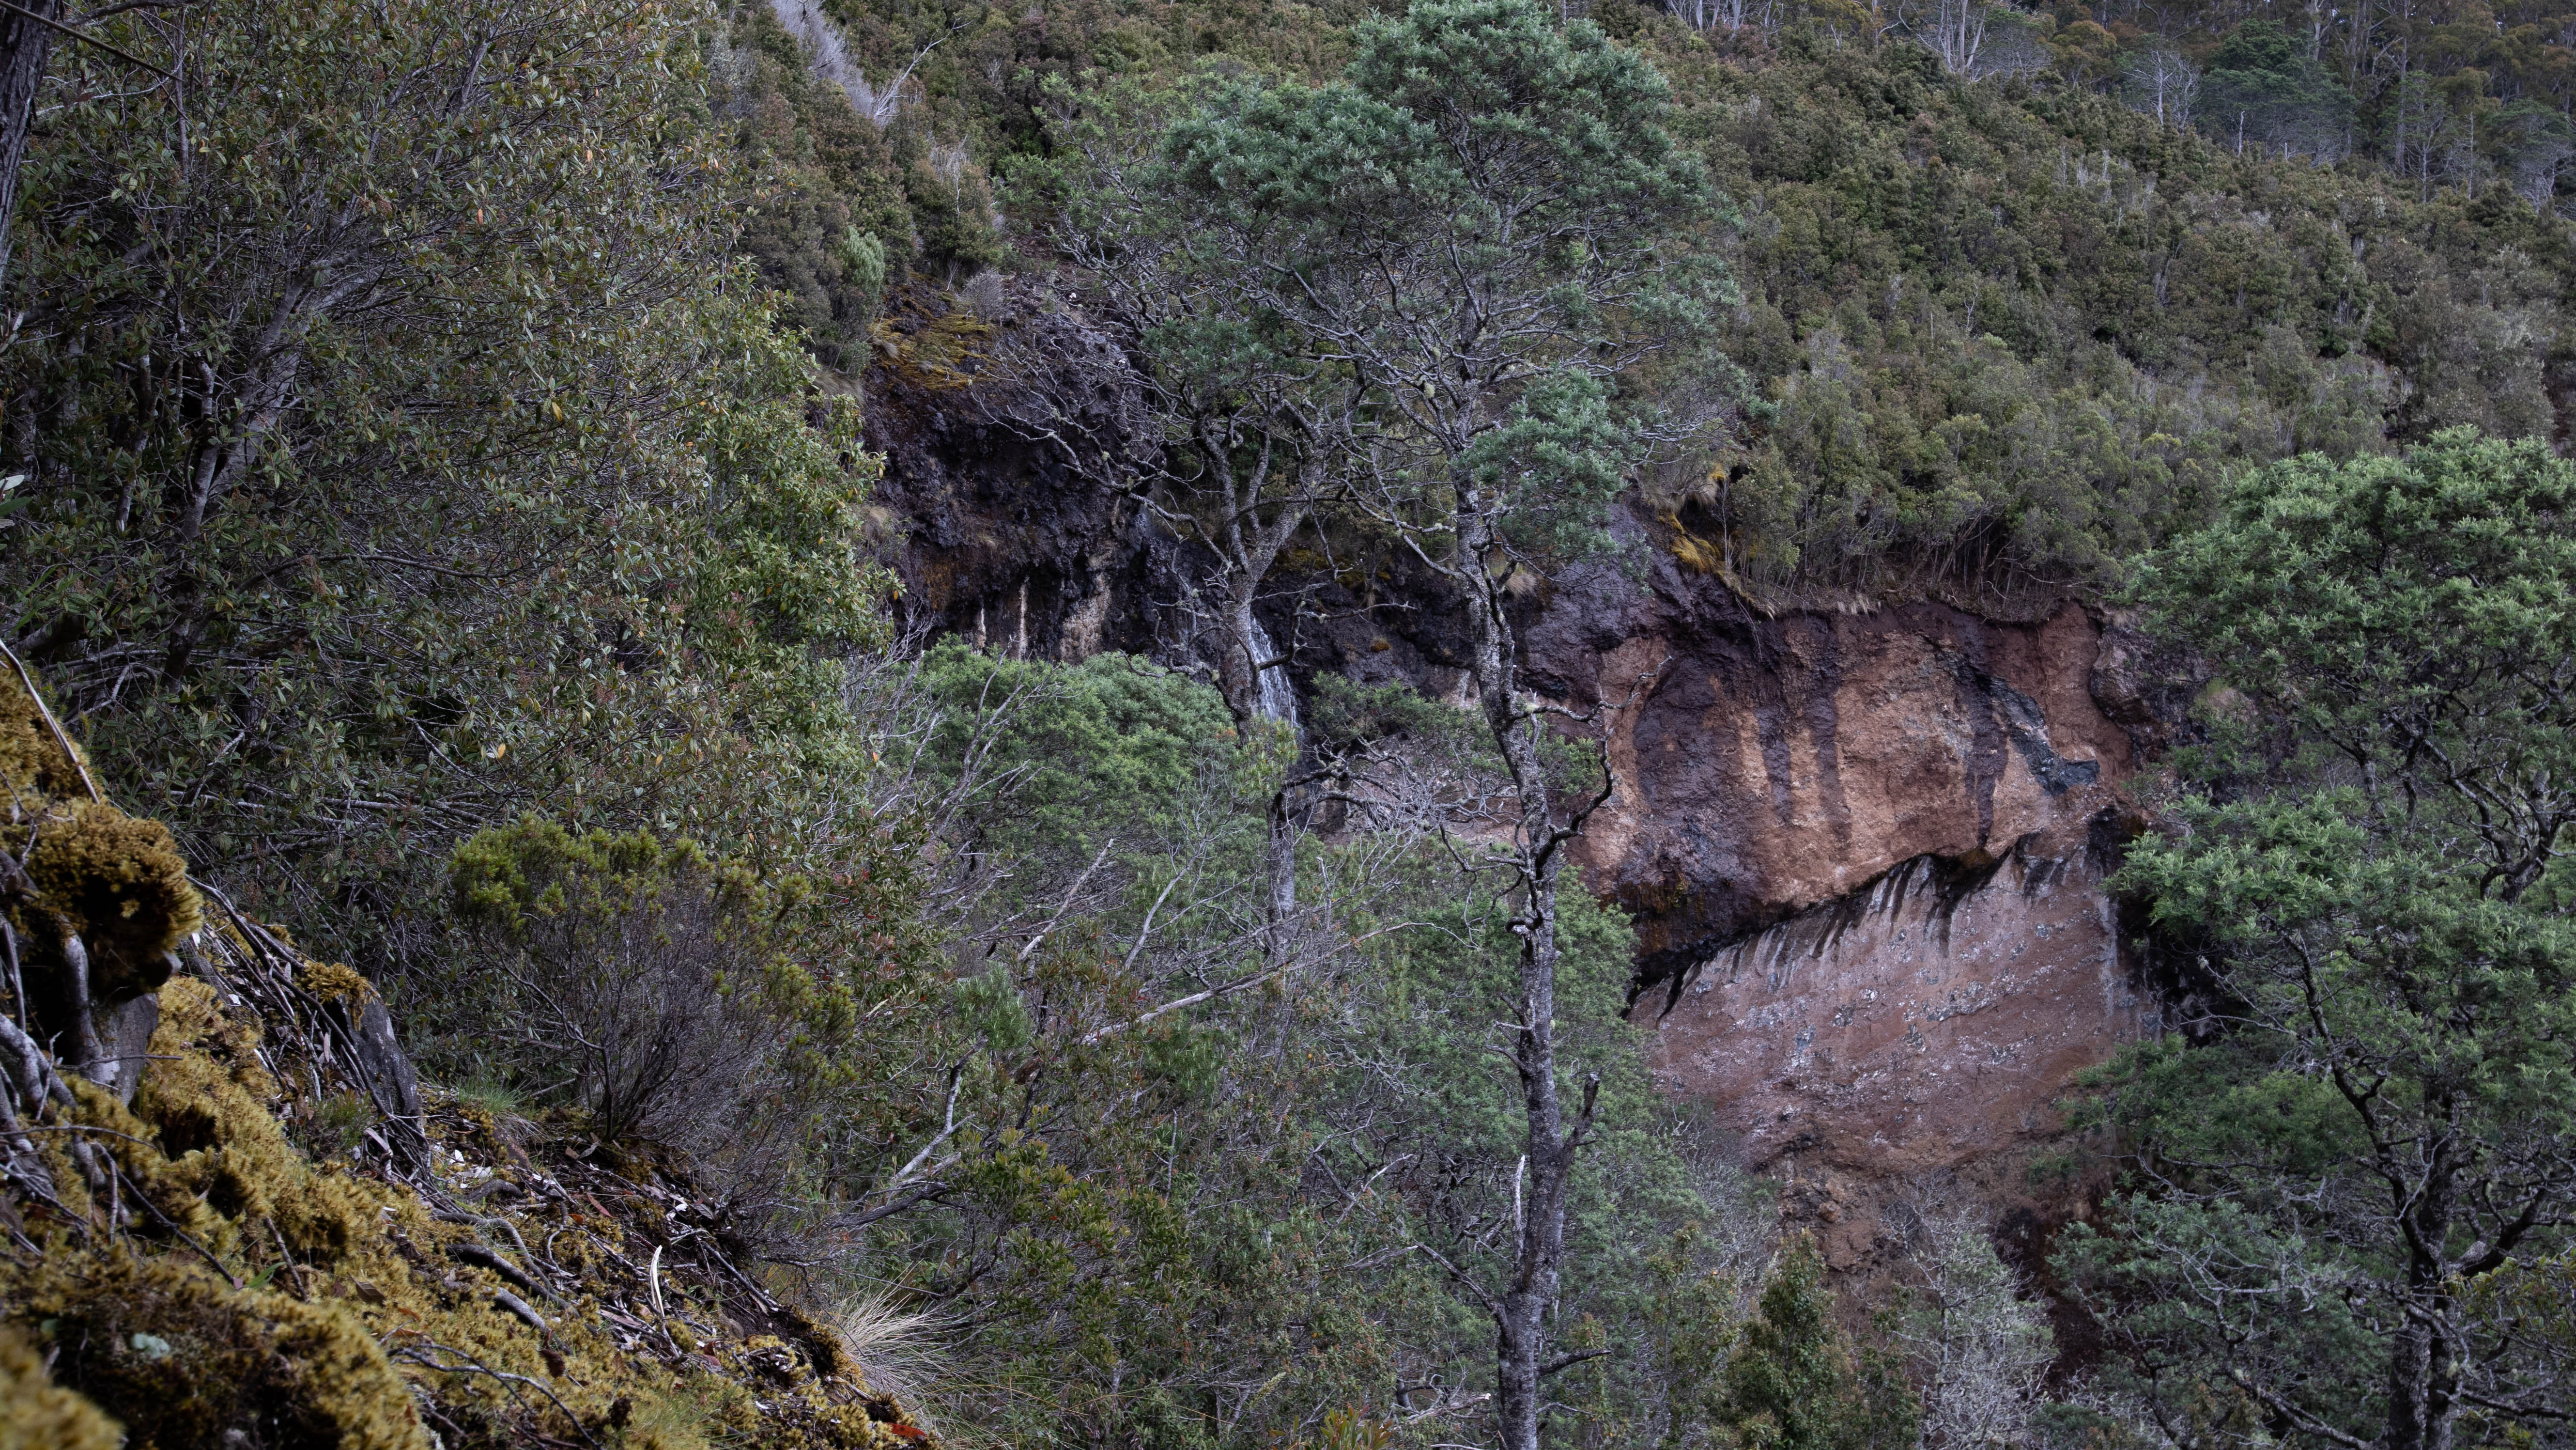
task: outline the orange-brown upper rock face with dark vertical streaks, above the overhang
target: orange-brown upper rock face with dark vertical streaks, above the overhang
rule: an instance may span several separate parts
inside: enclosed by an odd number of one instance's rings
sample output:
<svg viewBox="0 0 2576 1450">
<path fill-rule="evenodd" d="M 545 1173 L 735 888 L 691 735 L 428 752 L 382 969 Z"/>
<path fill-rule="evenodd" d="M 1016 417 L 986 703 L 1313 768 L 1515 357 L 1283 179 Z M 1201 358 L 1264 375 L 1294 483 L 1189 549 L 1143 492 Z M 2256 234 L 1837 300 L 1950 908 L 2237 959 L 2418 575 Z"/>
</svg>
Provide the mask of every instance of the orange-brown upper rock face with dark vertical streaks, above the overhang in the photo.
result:
<svg viewBox="0 0 2576 1450">
<path fill-rule="evenodd" d="M 1638 914 L 1643 984 L 1899 863 L 1999 858 L 2133 770 L 2092 698 L 2102 628 L 2071 603 L 1765 618 L 1669 561 L 1651 582 L 1566 590 L 1530 631 L 1551 693 L 1613 706 L 1620 786 L 1582 860 Z"/>
</svg>

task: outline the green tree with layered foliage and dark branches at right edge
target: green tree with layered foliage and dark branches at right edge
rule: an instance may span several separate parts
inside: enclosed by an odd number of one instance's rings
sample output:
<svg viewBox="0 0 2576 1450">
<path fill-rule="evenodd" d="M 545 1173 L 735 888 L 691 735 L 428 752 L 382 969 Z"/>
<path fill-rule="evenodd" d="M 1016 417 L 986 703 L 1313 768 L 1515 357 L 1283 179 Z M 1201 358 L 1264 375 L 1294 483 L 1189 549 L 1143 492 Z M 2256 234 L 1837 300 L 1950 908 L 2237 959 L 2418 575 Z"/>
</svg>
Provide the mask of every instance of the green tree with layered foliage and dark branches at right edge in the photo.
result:
<svg viewBox="0 0 2576 1450">
<path fill-rule="evenodd" d="M 2231 1004 L 2102 1079 L 2141 1180 L 2069 1267 L 2166 1404 L 2391 1450 L 2571 1409 L 2481 1293 L 2576 1205 L 2571 507 L 2548 446 L 2452 430 L 2262 469 L 2143 569 L 2228 693 L 2123 881 Z"/>
</svg>

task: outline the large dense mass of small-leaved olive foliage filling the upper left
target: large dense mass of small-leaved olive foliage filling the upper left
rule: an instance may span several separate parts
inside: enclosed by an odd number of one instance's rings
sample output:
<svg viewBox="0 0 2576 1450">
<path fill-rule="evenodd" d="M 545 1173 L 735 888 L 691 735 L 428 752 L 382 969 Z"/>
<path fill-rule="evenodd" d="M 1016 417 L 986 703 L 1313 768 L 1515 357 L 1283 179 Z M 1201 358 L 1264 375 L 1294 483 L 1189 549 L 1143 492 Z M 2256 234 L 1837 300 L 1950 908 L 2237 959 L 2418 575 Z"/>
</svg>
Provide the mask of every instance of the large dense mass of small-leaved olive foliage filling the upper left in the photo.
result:
<svg viewBox="0 0 2576 1450">
<path fill-rule="evenodd" d="M 206 5 L 185 116 L 57 57 L 5 628 L 121 798 L 397 989 L 430 863 L 520 809 L 793 840 L 732 793 L 884 631 L 855 410 L 726 258 L 703 21 Z"/>
</svg>

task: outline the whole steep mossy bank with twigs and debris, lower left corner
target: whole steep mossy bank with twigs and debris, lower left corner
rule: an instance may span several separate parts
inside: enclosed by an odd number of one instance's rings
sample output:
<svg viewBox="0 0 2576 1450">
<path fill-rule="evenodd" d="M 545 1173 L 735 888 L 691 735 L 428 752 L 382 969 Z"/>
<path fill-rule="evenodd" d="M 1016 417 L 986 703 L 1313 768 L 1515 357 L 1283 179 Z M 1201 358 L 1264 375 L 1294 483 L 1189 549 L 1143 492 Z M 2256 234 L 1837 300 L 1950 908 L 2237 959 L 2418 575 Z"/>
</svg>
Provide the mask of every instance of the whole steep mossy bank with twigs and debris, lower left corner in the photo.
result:
<svg viewBox="0 0 2576 1450">
<path fill-rule="evenodd" d="M 693 1221 L 685 1164 L 422 1102 L 374 986 L 191 886 L 157 824 L 72 850 L 113 809 L 62 739 L 0 672 L 39 822 L 0 863 L 0 1393 L 28 1445 L 930 1442 Z M 178 876 L 137 891 L 144 865 Z M 88 971 L 118 961 L 147 981 Z"/>
</svg>

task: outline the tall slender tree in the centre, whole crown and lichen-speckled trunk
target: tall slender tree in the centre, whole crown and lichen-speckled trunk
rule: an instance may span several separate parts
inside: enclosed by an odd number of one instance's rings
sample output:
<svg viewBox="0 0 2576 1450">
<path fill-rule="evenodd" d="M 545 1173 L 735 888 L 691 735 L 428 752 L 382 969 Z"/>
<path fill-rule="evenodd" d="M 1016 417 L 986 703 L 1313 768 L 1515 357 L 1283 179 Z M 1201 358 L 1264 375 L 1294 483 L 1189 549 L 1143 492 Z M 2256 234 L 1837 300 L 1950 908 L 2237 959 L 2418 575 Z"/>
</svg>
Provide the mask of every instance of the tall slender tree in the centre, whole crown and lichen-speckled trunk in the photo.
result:
<svg viewBox="0 0 2576 1450">
<path fill-rule="evenodd" d="M 1229 278 L 1291 345 L 1365 389 L 1360 492 L 1461 598 L 1479 713 L 1512 778 L 1486 865 L 1517 894 L 1512 1061 L 1528 1210 L 1499 1288 L 1504 1445 L 1538 1445 L 1546 1319 L 1566 1185 L 1592 1136 L 1556 1064 L 1556 878 L 1582 806 L 1558 809 L 1543 719 L 1515 680 L 1512 577 L 1597 543 L 1638 456 L 1615 379 L 1705 322 L 1721 291 L 1687 252 L 1713 219 L 1664 129 L 1664 80 L 1589 23 L 1528 0 L 1427 0 L 1363 23 L 1340 85 L 1216 88 L 1172 126 L 1185 196 L 1244 245 Z M 1517 1187 L 1515 1187 L 1517 1192 Z"/>
</svg>

